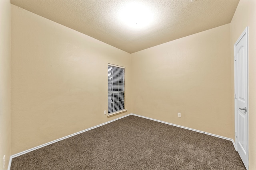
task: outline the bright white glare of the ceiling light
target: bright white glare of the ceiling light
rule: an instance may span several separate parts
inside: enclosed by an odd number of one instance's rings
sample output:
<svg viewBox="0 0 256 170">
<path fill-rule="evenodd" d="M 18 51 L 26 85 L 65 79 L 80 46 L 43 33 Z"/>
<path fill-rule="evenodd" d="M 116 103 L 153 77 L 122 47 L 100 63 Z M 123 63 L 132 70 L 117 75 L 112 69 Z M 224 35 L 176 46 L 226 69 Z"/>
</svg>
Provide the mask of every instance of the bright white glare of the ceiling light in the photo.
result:
<svg viewBox="0 0 256 170">
<path fill-rule="evenodd" d="M 142 29 L 152 23 L 153 14 L 143 3 L 132 2 L 124 4 L 120 9 L 119 19 L 128 27 Z"/>
</svg>

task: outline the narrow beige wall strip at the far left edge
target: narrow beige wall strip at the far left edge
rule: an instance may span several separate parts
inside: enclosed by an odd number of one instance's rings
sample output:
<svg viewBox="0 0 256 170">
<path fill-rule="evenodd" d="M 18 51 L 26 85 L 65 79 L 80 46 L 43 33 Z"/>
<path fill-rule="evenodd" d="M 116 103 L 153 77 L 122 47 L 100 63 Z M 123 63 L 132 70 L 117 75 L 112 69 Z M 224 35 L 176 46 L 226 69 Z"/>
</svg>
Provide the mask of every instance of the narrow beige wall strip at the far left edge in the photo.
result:
<svg viewBox="0 0 256 170">
<path fill-rule="evenodd" d="M 11 4 L 0 0 L 0 169 L 11 156 Z M 3 157 L 5 155 L 5 168 Z"/>
</svg>

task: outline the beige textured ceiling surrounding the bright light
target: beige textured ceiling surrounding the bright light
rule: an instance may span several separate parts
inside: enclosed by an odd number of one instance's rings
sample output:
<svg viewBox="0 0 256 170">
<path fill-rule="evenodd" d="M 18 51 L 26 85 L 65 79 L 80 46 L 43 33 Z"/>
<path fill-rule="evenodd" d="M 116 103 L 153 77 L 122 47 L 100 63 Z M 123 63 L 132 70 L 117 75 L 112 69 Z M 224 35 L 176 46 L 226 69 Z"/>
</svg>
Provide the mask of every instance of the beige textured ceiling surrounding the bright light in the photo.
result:
<svg viewBox="0 0 256 170">
<path fill-rule="evenodd" d="M 192 2 L 193 1 L 193 2 Z M 230 23 L 239 0 L 11 0 L 11 3 L 104 43 L 134 53 Z M 139 2 L 152 23 L 132 29 L 119 12 Z"/>
</svg>

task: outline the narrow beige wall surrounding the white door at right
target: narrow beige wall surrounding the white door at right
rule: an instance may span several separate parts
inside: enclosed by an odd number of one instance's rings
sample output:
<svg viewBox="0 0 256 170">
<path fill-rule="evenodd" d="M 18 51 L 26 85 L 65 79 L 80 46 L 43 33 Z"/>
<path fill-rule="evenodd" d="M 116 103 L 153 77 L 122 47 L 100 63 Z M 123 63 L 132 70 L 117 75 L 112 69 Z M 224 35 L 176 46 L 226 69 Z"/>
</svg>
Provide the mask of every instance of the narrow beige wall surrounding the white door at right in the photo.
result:
<svg viewBox="0 0 256 170">
<path fill-rule="evenodd" d="M 234 75 L 234 44 L 246 27 L 248 31 L 249 63 L 249 169 L 256 169 L 256 1 L 240 0 L 230 23 L 230 50 L 232 75 Z M 232 99 L 234 99 L 234 76 L 232 77 Z M 232 100 L 234 113 L 234 100 Z"/>
</svg>

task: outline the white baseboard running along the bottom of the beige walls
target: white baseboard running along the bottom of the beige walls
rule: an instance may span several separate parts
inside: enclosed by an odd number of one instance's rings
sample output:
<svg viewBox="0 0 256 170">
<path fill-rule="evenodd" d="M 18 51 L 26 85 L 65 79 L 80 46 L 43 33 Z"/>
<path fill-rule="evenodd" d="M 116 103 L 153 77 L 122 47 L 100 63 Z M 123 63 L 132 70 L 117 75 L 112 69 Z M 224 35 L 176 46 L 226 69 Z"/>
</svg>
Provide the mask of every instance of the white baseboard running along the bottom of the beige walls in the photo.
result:
<svg viewBox="0 0 256 170">
<path fill-rule="evenodd" d="M 191 131 L 196 131 L 196 132 L 199 132 L 199 133 L 204 133 L 204 134 L 206 134 L 206 135 L 211 135 L 211 136 L 214 136 L 214 137 L 226 139 L 226 140 L 228 140 L 228 141 L 232 141 L 232 143 L 233 143 L 233 145 L 234 145 L 234 148 L 236 149 L 236 145 L 235 145 L 233 139 L 230 139 L 230 138 L 227 138 L 227 137 L 222 137 L 222 136 L 219 136 L 219 135 L 214 135 L 214 134 L 212 134 L 212 133 L 207 133 L 207 132 L 204 132 L 204 131 L 199 131 L 199 130 L 192 129 L 192 128 L 189 128 L 189 127 L 184 127 L 184 126 L 176 125 L 176 124 L 173 124 L 173 123 L 168 123 L 168 122 L 165 122 L 165 121 L 160 121 L 160 120 L 157 120 L 157 119 L 152 119 L 152 118 L 145 117 L 145 116 L 141 116 L 141 115 L 136 115 L 136 114 L 134 114 L 134 113 L 130 113 L 130 114 L 128 114 L 128 115 L 124 115 L 124 116 L 122 116 L 122 117 L 118 117 L 118 118 L 113 119 L 113 120 L 111 120 L 111 121 L 107 121 L 107 122 L 105 122 L 105 123 L 102 123 L 102 124 L 100 124 L 100 125 L 96 125 L 96 126 L 94 126 L 94 127 L 90 127 L 90 128 L 85 129 L 85 130 L 83 130 L 83 131 L 80 131 L 80 132 L 77 132 L 77 133 L 73 133 L 73 134 L 68 135 L 68 136 L 66 136 L 66 137 L 62 137 L 62 138 L 60 138 L 60 139 L 56 139 L 56 140 L 54 140 L 54 141 L 45 143 L 45 144 L 40 145 L 40 146 L 38 146 L 38 147 L 34 147 L 34 148 L 32 148 L 32 149 L 28 149 L 28 150 L 25 150 L 25 151 L 23 151 L 23 152 L 19 152 L 19 153 L 17 153 L 17 154 L 14 154 L 14 155 L 10 156 L 10 160 L 9 160 L 9 164 L 8 164 L 8 170 L 10 170 L 10 168 L 11 168 L 12 158 L 15 158 L 15 157 L 20 156 L 20 155 L 22 155 L 22 154 L 26 154 L 26 153 L 31 152 L 31 151 L 33 151 L 33 150 L 36 150 L 36 149 L 45 147 L 45 146 L 47 146 L 47 145 L 51 145 L 52 143 L 56 143 L 56 142 L 58 142 L 58 141 L 62 141 L 63 139 L 67 139 L 67 138 L 69 138 L 69 137 L 78 135 L 78 134 L 80 134 L 80 133 L 84 133 L 84 132 L 89 131 L 89 130 L 91 130 L 91 129 L 94 129 L 94 128 L 97 128 L 97 127 L 106 125 L 106 124 L 108 124 L 108 123 L 111 123 L 111 122 L 116 121 L 116 120 L 118 120 L 118 119 L 122 119 L 122 118 L 124 118 L 124 117 L 129 116 L 129 115 L 134 115 L 134 116 L 142 117 L 142 118 L 145 118 L 145 119 L 150 119 L 150 120 L 153 120 L 153 121 L 158 121 L 158 122 L 160 122 L 160 123 L 165 123 L 165 124 L 172 125 L 172 126 L 176 126 L 176 127 L 180 127 L 180 128 L 183 128 L 183 129 L 188 129 L 188 130 L 191 130 Z"/>
</svg>

